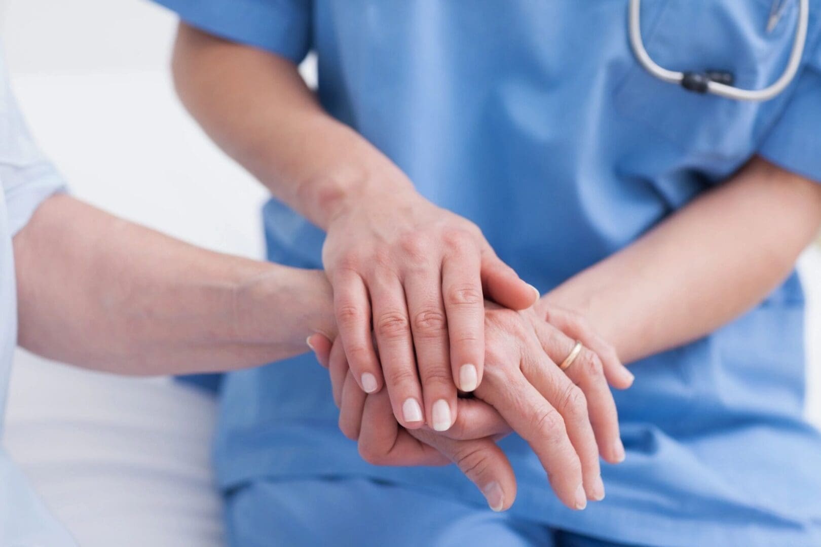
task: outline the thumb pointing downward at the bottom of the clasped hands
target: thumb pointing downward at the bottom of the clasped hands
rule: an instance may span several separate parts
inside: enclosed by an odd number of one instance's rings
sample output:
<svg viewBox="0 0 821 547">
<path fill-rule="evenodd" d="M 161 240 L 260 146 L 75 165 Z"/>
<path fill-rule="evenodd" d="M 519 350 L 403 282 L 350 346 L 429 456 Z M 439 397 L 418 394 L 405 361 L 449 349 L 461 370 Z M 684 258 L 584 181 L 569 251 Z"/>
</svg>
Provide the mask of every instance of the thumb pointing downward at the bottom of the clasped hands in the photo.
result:
<svg viewBox="0 0 821 547">
<path fill-rule="evenodd" d="M 507 511 L 516 499 L 516 476 L 507 456 L 488 437 L 452 440 L 433 431 L 415 429 L 410 435 L 437 449 L 465 473 L 488 500 L 493 511 Z"/>
</svg>

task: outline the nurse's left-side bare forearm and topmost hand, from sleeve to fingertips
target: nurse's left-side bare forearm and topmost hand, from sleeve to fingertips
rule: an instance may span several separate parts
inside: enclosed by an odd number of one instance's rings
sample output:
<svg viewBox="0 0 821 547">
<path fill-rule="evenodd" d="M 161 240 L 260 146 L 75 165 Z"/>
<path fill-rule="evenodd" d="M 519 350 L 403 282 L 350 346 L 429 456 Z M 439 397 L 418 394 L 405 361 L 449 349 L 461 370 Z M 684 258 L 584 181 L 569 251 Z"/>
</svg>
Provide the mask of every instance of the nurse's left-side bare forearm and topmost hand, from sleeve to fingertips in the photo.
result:
<svg viewBox="0 0 821 547">
<path fill-rule="evenodd" d="M 328 233 L 323 267 L 360 388 L 387 386 L 406 428 L 452 426 L 456 386 L 481 382 L 484 299 L 530 308 L 534 288 L 477 226 L 424 199 L 388 157 L 324 112 L 287 59 L 181 25 L 174 76 L 213 139 Z"/>
</svg>

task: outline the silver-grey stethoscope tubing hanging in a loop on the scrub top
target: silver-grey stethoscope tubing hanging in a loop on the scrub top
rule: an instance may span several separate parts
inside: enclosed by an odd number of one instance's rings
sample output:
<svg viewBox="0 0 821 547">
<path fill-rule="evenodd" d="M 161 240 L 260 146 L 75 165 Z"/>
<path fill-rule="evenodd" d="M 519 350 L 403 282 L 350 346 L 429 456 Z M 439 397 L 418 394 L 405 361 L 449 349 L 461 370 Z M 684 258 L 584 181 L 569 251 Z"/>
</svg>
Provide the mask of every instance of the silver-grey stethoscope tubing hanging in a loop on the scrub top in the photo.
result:
<svg viewBox="0 0 821 547">
<path fill-rule="evenodd" d="M 787 86 L 795 79 L 801 64 L 801 57 L 804 56 L 804 48 L 807 41 L 807 29 L 810 25 L 810 0 L 799 0 L 798 25 L 796 26 L 796 39 L 792 43 L 787 67 L 779 76 L 778 80 L 768 85 L 764 89 L 741 89 L 733 85 L 722 84 L 720 82 L 707 82 L 707 93 L 713 93 L 719 97 L 731 98 L 737 101 L 768 101 L 777 97 L 787 89 Z M 670 71 L 663 66 L 658 66 L 649 56 L 644 48 L 644 40 L 641 38 L 641 0 L 630 0 L 628 13 L 628 27 L 630 31 L 630 43 L 641 66 L 651 75 L 659 80 L 671 84 L 681 84 L 685 78 L 685 73 Z"/>
</svg>

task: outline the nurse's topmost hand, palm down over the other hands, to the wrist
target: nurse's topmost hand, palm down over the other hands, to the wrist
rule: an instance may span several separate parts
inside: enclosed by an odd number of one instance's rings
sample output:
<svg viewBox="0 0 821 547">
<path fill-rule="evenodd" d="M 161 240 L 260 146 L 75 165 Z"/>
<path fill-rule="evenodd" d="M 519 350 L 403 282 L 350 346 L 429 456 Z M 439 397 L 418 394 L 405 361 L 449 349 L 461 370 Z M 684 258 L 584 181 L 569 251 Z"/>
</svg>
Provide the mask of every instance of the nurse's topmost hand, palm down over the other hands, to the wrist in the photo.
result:
<svg viewBox="0 0 821 547">
<path fill-rule="evenodd" d="M 367 393 L 387 384 L 407 429 L 425 422 L 449 429 L 456 388 L 481 383 L 484 300 L 524 309 L 538 296 L 475 224 L 414 191 L 362 198 L 337 212 L 323 264 L 356 383 Z"/>
</svg>

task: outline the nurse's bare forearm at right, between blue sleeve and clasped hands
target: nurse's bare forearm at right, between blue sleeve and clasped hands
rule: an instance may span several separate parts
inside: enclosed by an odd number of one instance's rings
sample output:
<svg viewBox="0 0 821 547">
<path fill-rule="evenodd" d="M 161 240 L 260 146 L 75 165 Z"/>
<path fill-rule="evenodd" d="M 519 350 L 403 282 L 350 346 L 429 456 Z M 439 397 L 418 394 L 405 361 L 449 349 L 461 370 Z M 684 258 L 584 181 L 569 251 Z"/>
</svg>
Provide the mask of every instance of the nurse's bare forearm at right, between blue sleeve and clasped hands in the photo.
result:
<svg viewBox="0 0 821 547">
<path fill-rule="evenodd" d="M 643 238 L 544 297 L 632 362 L 752 308 L 818 233 L 821 185 L 755 158 Z"/>
</svg>

